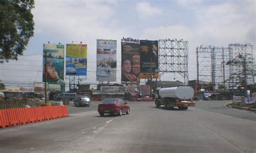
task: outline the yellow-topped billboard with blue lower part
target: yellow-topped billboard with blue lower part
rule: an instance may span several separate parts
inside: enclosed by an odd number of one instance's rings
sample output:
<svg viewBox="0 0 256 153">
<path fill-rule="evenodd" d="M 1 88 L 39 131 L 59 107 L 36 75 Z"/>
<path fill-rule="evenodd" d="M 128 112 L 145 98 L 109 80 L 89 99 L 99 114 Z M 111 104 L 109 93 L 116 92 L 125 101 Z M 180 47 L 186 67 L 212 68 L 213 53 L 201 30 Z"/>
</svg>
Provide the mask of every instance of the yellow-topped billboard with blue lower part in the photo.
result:
<svg viewBox="0 0 256 153">
<path fill-rule="evenodd" d="M 66 75 L 87 75 L 87 45 L 66 44 Z"/>
</svg>

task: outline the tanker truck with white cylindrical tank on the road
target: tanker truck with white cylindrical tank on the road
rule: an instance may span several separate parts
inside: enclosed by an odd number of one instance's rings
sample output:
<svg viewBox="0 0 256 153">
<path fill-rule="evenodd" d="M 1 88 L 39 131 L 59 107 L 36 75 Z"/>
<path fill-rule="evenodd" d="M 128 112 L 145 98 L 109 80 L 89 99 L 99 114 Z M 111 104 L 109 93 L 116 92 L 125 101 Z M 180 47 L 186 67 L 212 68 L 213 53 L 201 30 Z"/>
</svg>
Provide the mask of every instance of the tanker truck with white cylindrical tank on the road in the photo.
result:
<svg viewBox="0 0 256 153">
<path fill-rule="evenodd" d="M 179 110 L 187 110 L 188 106 L 194 106 L 192 97 L 194 90 L 190 86 L 177 86 L 171 88 L 157 88 L 156 107 L 164 105 L 166 109 L 178 107 Z"/>
</svg>

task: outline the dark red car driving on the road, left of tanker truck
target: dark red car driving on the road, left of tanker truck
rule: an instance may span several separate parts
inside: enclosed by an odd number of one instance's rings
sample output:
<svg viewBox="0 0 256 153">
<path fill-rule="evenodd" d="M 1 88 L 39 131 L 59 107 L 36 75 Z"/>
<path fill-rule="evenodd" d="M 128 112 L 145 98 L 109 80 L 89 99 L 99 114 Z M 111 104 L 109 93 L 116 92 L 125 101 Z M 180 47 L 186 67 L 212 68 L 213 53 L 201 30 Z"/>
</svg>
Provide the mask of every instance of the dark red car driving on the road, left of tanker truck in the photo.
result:
<svg viewBox="0 0 256 153">
<path fill-rule="evenodd" d="M 104 114 L 117 114 L 121 116 L 123 113 L 130 114 L 130 106 L 122 99 L 110 98 L 105 99 L 98 106 L 100 116 Z"/>
</svg>

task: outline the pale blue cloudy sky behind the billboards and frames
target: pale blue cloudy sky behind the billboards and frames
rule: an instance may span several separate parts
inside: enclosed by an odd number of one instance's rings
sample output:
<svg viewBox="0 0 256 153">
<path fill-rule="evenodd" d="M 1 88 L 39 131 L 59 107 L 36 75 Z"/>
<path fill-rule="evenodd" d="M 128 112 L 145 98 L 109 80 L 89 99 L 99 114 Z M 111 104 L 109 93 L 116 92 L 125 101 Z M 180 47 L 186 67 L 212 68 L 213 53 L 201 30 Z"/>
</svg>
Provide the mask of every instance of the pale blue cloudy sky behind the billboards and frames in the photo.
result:
<svg viewBox="0 0 256 153">
<path fill-rule="evenodd" d="M 48 1 L 37 0 L 32 10 L 35 33 L 24 56 L 1 65 L 0 79 L 7 87 L 31 86 L 42 81 L 43 43 L 88 45 L 88 75 L 96 82 L 96 39 L 183 39 L 189 43 L 189 79 L 196 79 L 196 47 L 228 47 L 251 43 L 255 48 L 255 1 Z M 254 55 L 256 54 L 254 49 Z M 254 56 L 255 57 L 255 56 Z M 119 60 L 120 61 L 120 60 Z M 255 62 L 255 61 L 254 61 Z M 120 82 L 120 62 L 117 81 Z M 173 80 L 173 74 L 163 80 Z M 179 79 L 176 74 L 176 80 Z"/>
</svg>

